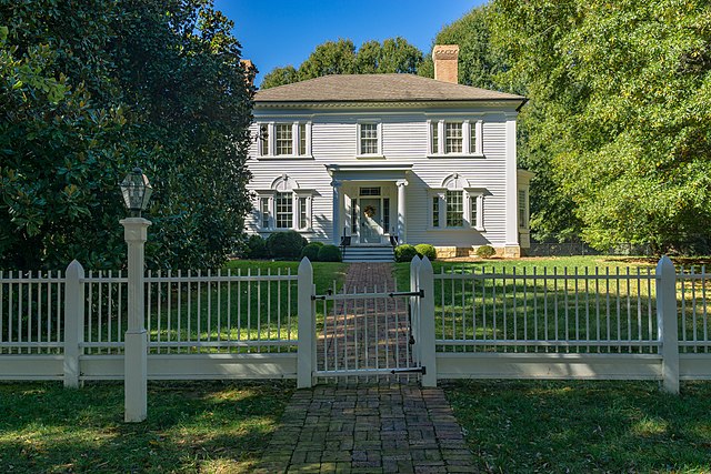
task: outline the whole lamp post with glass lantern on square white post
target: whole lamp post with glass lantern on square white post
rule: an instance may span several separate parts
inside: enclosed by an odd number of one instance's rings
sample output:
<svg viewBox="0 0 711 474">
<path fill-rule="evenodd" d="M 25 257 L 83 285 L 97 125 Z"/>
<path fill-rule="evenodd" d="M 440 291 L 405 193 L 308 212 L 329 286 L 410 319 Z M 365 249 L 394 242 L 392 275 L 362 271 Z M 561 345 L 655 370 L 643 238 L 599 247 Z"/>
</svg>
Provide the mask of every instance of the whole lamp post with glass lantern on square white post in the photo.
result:
<svg viewBox="0 0 711 474">
<path fill-rule="evenodd" d="M 123 238 L 129 252 L 129 325 L 123 346 L 123 418 L 136 423 L 144 421 L 147 415 L 148 334 L 144 324 L 143 245 L 151 222 L 141 218 L 141 211 L 148 206 L 153 188 L 140 168 L 134 168 L 127 174 L 120 186 L 123 202 L 131 215 L 119 221 L 123 225 Z"/>
</svg>

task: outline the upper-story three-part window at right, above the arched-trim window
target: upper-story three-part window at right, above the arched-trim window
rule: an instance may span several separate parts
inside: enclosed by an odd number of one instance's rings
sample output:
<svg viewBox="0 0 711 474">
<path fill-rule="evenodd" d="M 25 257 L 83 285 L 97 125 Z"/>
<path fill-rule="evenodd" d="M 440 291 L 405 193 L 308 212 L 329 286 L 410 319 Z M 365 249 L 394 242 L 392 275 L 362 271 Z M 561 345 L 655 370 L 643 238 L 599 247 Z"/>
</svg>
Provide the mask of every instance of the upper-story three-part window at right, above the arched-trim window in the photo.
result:
<svg viewBox="0 0 711 474">
<path fill-rule="evenodd" d="M 481 135 L 481 120 L 430 120 L 430 155 L 483 157 Z"/>
</svg>

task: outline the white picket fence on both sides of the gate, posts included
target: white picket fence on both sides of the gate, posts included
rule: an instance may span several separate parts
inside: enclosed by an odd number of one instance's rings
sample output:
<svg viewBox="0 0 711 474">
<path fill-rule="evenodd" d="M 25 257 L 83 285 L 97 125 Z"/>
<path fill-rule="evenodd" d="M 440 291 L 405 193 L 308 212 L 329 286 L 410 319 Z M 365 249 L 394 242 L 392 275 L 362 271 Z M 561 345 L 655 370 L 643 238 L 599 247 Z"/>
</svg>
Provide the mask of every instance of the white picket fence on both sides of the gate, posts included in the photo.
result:
<svg viewBox="0 0 711 474">
<path fill-rule="evenodd" d="M 304 261 L 299 274 L 147 272 L 148 377 L 309 386 L 318 372 L 312 271 Z M 709 276 L 704 268 L 674 270 L 668 259 L 655 271 L 438 274 L 415 259 L 410 290 L 424 291 L 409 299 L 410 311 L 427 330 L 415 327 L 412 357 L 430 385 L 648 379 L 674 392 L 680 380 L 711 379 Z M 121 272 L 84 273 L 76 262 L 63 273 L 0 272 L 0 380 L 121 380 L 128 303 Z"/>
</svg>

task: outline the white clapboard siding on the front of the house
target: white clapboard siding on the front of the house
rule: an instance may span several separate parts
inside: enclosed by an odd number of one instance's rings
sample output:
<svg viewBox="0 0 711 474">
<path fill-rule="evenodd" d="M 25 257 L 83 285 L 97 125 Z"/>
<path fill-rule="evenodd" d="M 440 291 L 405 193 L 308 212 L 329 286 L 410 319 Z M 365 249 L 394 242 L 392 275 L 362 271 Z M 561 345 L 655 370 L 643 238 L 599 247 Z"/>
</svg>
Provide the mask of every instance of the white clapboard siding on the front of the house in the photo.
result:
<svg viewBox="0 0 711 474">
<path fill-rule="evenodd" d="M 258 157 L 257 143 L 250 150 L 249 169 L 252 179 L 251 190 L 270 189 L 273 181 L 282 174 L 296 180 L 302 189 L 314 190 L 312 200 L 312 230 L 303 232 L 309 240 L 332 241 L 332 178 L 327 171 L 329 164 L 364 164 L 369 159 L 358 158 L 358 123 L 380 122 L 382 159 L 374 163 L 411 163 L 412 172 L 408 177 L 405 189 L 405 224 L 408 241 L 411 243 L 431 243 L 442 246 L 471 246 L 491 244 L 503 246 L 505 243 L 505 121 L 501 112 L 491 110 L 473 111 L 463 115 L 461 110 L 438 110 L 437 118 L 469 119 L 472 123 L 483 120 L 484 158 L 430 158 L 429 125 L 431 117 L 422 110 L 373 110 L 365 109 L 342 111 L 292 111 L 289 115 L 280 115 L 279 111 L 254 111 L 256 122 L 269 121 L 309 121 L 311 123 L 312 157 L 298 159 L 264 159 Z M 434 119 L 432 119 L 434 120 Z M 252 125 L 257 134 L 257 124 Z M 443 138 L 441 138 L 443 140 Z M 431 188 L 441 188 L 445 178 L 459 173 L 465 178 L 470 186 L 487 190 L 483 201 L 483 221 L 485 231 L 473 229 L 439 230 L 431 229 L 429 216 L 429 194 Z M 348 190 L 351 183 L 346 183 Z M 360 184 L 360 183 L 356 183 Z M 383 192 L 397 198 L 394 184 L 381 182 Z M 390 189 L 392 188 L 392 189 Z M 253 204 L 257 204 L 254 200 Z M 347 204 L 348 205 L 348 204 Z M 397 201 L 391 201 L 392 215 L 397 215 Z M 259 232 L 257 212 L 248 215 L 247 230 Z M 341 211 L 342 230 L 346 212 Z M 513 216 L 515 219 L 515 216 Z M 394 219 L 392 222 L 394 223 Z"/>
</svg>

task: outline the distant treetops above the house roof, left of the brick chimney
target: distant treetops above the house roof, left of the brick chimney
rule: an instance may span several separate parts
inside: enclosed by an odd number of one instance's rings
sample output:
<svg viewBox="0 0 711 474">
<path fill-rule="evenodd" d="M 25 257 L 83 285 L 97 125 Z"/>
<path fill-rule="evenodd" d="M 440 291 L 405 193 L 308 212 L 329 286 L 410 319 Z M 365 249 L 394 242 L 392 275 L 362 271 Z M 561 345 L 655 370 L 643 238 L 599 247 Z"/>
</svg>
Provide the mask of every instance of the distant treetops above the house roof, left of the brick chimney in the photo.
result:
<svg viewBox="0 0 711 474">
<path fill-rule="evenodd" d="M 414 74 L 422 63 L 422 52 L 403 38 L 382 43 L 367 41 L 357 50 L 351 40 L 339 39 L 319 44 L 299 69 L 276 68 L 264 75 L 261 88 L 290 84 L 328 74 Z"/>
</svg>

